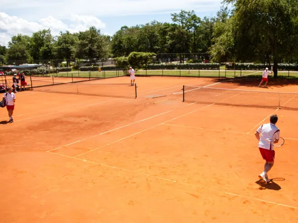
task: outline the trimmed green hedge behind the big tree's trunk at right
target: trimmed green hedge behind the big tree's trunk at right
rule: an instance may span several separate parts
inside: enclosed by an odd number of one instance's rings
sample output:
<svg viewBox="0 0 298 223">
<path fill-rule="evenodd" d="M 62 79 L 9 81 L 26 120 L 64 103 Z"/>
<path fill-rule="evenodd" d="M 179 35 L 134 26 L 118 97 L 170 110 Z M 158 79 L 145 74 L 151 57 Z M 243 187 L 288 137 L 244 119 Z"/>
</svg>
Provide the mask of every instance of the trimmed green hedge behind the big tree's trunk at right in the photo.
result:
<svg viewBox="0 0 298 223">
<path fill-rule="evenodd" d="M 229 66 L 228 63 L 226 63 L 226 69 L 228 70 L 265 70 L 265 68 L 268 67 L 269 70 L 271 70 L 271 66 L 269 64 L 261 64 L 261 63 L 236 63 L 234 66 L 234 63 L 232 63 L 231 66 Z M 298 64 L 296 63 L 279 63 L 278 64 L 278 70 L 292 70 L 292 71 L 298 71 Z"/>
</svg>

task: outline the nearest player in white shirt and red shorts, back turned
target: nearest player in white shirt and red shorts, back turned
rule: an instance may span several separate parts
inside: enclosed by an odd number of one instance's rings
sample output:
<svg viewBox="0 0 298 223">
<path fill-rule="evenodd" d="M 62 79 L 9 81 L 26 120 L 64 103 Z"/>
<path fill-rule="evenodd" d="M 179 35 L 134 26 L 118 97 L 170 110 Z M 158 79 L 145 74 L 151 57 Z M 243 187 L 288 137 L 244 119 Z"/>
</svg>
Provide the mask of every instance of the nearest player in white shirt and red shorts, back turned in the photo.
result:
<svg viewBox="0 0 298 223">
<path fill-rule="evenodd" d="M 263 183 L 270 182 L 268 179 L 268 172 L 274 165 L 275 151 L 273 144 L 278 143 L 280 137 L 280 130 L 276 127 L 278 116 L 276 114 L 270 117 L 270 123 L 261 125 L 255 136 L 259 141 L 259 150 L 264 160 L 266 160 L 264 171 L 259 175 Z M 260 136 L 261 134 L 261 136 Z"/>
</svg>

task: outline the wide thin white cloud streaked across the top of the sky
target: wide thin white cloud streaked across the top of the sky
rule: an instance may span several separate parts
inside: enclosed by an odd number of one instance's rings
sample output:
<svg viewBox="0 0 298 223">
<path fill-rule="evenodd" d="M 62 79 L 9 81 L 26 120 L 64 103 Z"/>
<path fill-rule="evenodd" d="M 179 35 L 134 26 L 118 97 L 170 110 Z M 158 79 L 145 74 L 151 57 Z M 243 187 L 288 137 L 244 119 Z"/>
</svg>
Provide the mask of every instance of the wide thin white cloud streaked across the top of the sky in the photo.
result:
<svg viewBox="0 0 298 223">
<path fill-rule="evenodd" d="M 71 14 L 96 17 L 144 15 L 169 11 L 217 11 L 222 0 L 1 0 L 1 10 L 18 10 L 18 16 L 34 20 L 47 16 L 68 19 Z M 29 8 L 34 10 L 31 13 Z"/>
</svg>

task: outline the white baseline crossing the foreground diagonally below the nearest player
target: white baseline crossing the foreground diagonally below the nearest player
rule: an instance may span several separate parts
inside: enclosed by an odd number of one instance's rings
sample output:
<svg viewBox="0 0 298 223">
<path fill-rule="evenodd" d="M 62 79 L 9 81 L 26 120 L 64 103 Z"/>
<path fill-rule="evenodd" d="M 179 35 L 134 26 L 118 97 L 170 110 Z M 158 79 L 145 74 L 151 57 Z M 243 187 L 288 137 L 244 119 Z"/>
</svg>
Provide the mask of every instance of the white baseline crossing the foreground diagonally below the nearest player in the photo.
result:
<svg viewBox="0 0 298 223">
<path fill-rule="evenodd" d="M 102 164 L 102 163 L 99 163 L 99 162 L 82 160 L 82 159 L 79 159 L 79 158 L 76 158 L 76 157 L 70 157 L 70 156 L 67 156 L 67 155 L 59 154 L 59 153 L 51 153 L 51 154 L 55 154 L 55 155 L 62 156 L 62 157 L 67 157 L 67 158 L 78 160 L 78 161 L 83 161 L 83 162 L 90 163 L 90 164 L 100 165 L 100 166 L 103 166 L 103 167 L 118 169 L 118 170 L 122 170 L 122 171 L 125 171 L 125 172 L 140 174 L 140 175 L 143 175 L 143 176 L 149 176 L 149 177 L 155 178 L 155 179 L 161 179 L 161 180 L 170 181 L 170 182 L 173 182 L 173 183 L 179 183 L 179 184 L 183 184 L 183 185 L 187 185 L 187 186 L 191 186 L 191 187 L 195 187 L 195 188 L 209 190 L 209 191 L 213 191 L 214 193 L 228 194 L 228 195 L 232 195 L 232 196 L 243 197 L 243 198 L 250 199 L 250 200 L 256 200 L 256 201 L 261 201 L 261 202 L 265 202 L 265 203 L 269 203 L 269 204 L 274 204 L 274 205 L 278 205 L 278 206 L 282 206 L 282 207 L 298 209 L 298 207 L 294 207 L 294 206 L 290 206 L 290 205 L 285 205 L 285 204 L 276 203 L 276 202 L 267 201 L 267 200 L 261 200 L 261 199 L 258 199 L 258 198 L 243 196 L 243 195 L 229 193 L 229 192 L 223 192 L 223 191 L 219 191 L 219 190 L 213 190 L 210 187 L 202 187 L 202 186 L 199 187 L 197 185 L 193 185 L 193 184 L 189 184 L 189 183 L 185 183 L 185 182 L 180 182 L 180 181 L 177 181 L 177 180 L 167 179 L 167 178 L 164 178 L 164 177 L 153 176 L 153 175 L 150 175 L 150 174 L 145 173 L 145 172 L 138 172 L 138 171 L 133 171 L 133 170 L 129 170 L 129 169 L 121 168 L 121 167 L 114 167 L 114 166 Z"/>
</svg>

